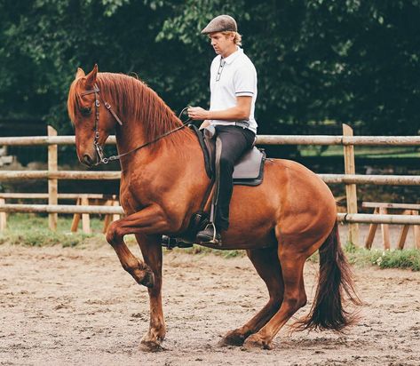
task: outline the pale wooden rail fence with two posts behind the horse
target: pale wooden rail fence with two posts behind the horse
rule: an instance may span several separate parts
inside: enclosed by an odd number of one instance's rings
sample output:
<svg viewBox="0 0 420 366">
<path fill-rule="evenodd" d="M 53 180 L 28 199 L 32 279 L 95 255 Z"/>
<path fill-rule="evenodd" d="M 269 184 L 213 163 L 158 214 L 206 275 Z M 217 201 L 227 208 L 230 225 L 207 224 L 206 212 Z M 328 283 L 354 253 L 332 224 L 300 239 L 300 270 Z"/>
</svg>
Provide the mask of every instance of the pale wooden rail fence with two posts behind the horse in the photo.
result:
<svg viewBox="0 0 420 366">
<path fill-rule="evenodd" d="M 58 213 L 104 213 L 120 214 L 121 207 L 59 205 L 57 182 L 59 179 L 120 179 L 119 171 L 59 171 L 57 163 L 58 145 L 74 145 L 74 136 L 57 136 L 51 126 L 48 136 L 0 138 L 0 146 L 48 146 L 47 171 L 0 171 L 0 181 L 14 179 L 48 179 L 48 204 L 0 203 L 0 212 L 48 212 L 50 228 L 57 227 Z M 107 144 L 115 144 L 110 136 Z M 418 136 L 353 136 L 350 126 L 343 125 L 342 136 L 271 136 L 259 135 L 258 145 L 341 145 L 344 147 L 345 174 L 319 174 L 327 184 L 345 184 L 347 213 L 340 213 L 337 219 L 349 223 L 349 241 L 359 244 L 358 223 L 420 225 L 420 217 L 408 215 L 369 215 L 357 212 L 357 184 L 376 185 L 420 185 L 420 176 L 357 175 L 355 174 L 355 146 L 420 146 Z M 1 226 L 1 224 L 0 224 Z"/>
</svg>

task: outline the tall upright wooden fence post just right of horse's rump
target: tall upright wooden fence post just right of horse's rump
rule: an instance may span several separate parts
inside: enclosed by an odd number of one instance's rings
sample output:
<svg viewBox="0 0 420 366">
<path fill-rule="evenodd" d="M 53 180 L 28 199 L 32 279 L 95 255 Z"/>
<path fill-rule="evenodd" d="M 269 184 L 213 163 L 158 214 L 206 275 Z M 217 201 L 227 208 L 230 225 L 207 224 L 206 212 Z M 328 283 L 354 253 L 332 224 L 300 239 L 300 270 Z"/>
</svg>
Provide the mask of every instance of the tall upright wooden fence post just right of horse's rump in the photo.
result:
<svg viewBox="0 0 420 366">
<path fill-rule="evenodd" d="M 343 123 L 343 136 L 353 136 L 353 129 L 349 125 Z M 354 147 L 353 145 L 345 145 L 345 174 L 355 174 L 356 164 L 354 163 Z M 357 213 L 357 193 L 355 184 L 345 185 L 345 196 L 347 198 L 347 212 Z M 349 224 L 350 243 L 359 246 L 359 225 Z"/>
</svg>

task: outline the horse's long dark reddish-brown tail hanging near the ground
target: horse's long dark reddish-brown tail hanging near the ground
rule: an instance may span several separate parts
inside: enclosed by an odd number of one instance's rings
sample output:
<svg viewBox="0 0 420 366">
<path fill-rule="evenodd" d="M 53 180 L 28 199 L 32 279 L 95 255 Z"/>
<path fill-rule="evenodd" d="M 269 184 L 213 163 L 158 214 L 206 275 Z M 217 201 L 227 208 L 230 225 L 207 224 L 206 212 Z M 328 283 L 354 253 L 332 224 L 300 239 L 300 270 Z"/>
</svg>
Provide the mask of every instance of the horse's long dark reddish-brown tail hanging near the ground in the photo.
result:
<svg viewBox="0 0 420 366">
<path fill-rule="evenodd" d="M 356 318 L 345 311 L 344 296 L 355 305 L 361 300 L 353 286 L 353 274 L 338 236 L 337 221 L 320 248 L 320 275 L 310 313 L 297 322 L 297 328 L 306 330 L 342 330 Z"/>
</svg>

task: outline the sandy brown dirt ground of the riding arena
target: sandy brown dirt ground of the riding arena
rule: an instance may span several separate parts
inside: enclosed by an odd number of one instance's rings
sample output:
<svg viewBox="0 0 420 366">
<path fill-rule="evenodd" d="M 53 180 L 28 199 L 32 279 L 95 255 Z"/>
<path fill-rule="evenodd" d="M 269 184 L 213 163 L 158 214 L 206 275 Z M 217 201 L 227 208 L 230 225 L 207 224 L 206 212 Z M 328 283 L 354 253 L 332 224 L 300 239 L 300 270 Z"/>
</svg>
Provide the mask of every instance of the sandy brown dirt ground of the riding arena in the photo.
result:
<svg viewBox="0 0 420 366">
<path fill-rule="evenodd" d="M 380 236 L 380 235 L 378 235 Z M 133 251 L 137 248 L 132 247 Z M 309 304 L 318 265 L 305 267 Z M 147 290 L 104 243 L 85 248 L 0 245 L 0 364 L 419 365 L 420 273 L 354 268 L 365 302 L 345 334 L 281 330 L 274 349 L 217 346 L 265 304 L 247 258 L 164 256 L 165 351 L 139 350 Z"/>
</svg>

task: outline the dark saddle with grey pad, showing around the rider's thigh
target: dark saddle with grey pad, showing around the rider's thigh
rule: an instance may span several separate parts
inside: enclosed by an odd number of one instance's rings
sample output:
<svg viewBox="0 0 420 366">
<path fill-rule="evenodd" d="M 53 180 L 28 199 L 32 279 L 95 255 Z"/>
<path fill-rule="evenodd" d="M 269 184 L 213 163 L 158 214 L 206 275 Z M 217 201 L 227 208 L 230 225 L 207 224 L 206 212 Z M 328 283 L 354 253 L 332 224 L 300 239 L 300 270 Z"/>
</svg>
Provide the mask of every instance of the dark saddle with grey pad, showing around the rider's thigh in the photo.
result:
<svg viewBox="0 0 420 366">
<path fill-rule="evenodd" d="M 214 126 L 209 126 L 204 130 L 198 130 L 194 124 L 189 126 L 197 135 L 204 155 L 204 164 L 207 175 L 210 179 L 214 178 L 216 156 L 216 145 L 218 139 L 215 139 L 216 131 Z M 234 165 L 234 185 L 258 186 L 263 181 L 264 175 L 265 151 L 252 147 L 247 151 Z"/>
</svg>

